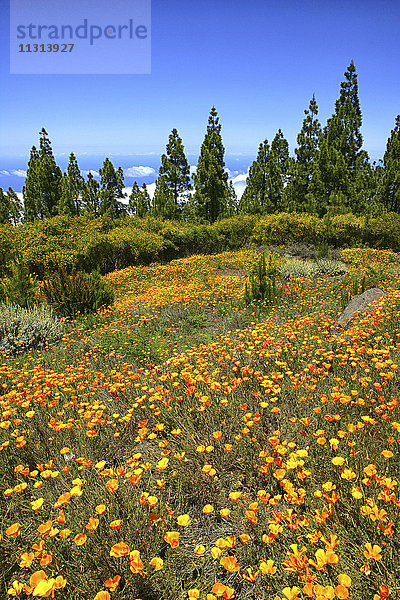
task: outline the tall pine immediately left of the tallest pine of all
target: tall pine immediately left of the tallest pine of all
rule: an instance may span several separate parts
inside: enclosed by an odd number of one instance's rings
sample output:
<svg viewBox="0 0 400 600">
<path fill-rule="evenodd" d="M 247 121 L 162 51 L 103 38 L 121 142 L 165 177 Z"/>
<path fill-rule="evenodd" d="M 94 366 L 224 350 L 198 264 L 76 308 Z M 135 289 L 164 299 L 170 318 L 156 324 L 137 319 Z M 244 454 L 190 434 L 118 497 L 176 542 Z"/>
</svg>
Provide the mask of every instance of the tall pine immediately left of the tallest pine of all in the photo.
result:
<svg viewBox="0 0 400 600">
<path fill-rule="evenodd" d="M 296 212 L 314 212 L 308 196 L 313 174 L 313 163 L 319 149 L 321 125 L 317 119 L 318 105 L 315 94 L 310 100 L 303 126 L 297 136 L 296 159 L 291 162 L 289 182 L 284 191 L 285 210 Z"/>
</svg>

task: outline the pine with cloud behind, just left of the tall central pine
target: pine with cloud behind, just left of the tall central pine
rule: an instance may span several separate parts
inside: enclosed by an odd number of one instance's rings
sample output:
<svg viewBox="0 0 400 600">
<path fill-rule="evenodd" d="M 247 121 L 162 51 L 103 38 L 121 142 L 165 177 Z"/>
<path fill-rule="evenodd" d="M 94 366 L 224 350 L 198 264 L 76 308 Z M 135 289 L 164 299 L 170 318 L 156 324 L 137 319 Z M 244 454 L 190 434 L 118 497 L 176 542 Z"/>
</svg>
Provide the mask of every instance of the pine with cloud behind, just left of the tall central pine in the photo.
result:
<svg viewBox="0 0 400 600">
<path fill-rule="evenodd" d="M 166 154 L 161 156 L 158 174 L 164 177 L 164 182 L 174 198 L 175 206 L 178 207 L 179 198 L 182 194 L 187 196 L 191 185 L 189 163 L 185 156 L 182 139 L 176 129 L 173 129 L 169 136 Z"/>
</svg>

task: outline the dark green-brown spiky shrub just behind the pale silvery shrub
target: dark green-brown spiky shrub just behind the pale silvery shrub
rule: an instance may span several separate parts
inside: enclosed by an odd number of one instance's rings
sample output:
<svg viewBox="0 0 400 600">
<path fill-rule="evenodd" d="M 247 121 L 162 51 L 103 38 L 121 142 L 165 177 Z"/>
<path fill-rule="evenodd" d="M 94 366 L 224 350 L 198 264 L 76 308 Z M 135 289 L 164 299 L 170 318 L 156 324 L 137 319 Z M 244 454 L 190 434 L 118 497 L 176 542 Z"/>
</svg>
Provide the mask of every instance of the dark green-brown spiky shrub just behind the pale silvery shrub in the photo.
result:
<svg viewBox="0 0 400 600">
<path fill-rule="evenodd" d="M 68 275 L 61 269 L 52 279 L 43 282 L 42 291 L 47 303 L 65 317 L 94 312 L 114 300 L 114 292 L 98 272 L 73 271 Z"/>
</svg>

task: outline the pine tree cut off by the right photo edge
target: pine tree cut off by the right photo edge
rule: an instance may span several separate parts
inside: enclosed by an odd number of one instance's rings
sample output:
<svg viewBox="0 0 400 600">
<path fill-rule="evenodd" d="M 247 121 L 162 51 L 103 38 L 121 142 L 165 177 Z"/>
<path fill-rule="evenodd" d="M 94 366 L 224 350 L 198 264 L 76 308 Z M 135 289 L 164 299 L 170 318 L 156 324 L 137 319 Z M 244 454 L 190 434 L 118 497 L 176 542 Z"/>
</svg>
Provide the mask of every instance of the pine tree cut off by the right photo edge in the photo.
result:
<svg viewBox="0 0 400 600">
<path fill-rule="evenodd" d="M 379 195 L 387 210 L 400 212 L 400 115 L 390 133 L 383 155 L 383 172 Z"/>
</svg>

